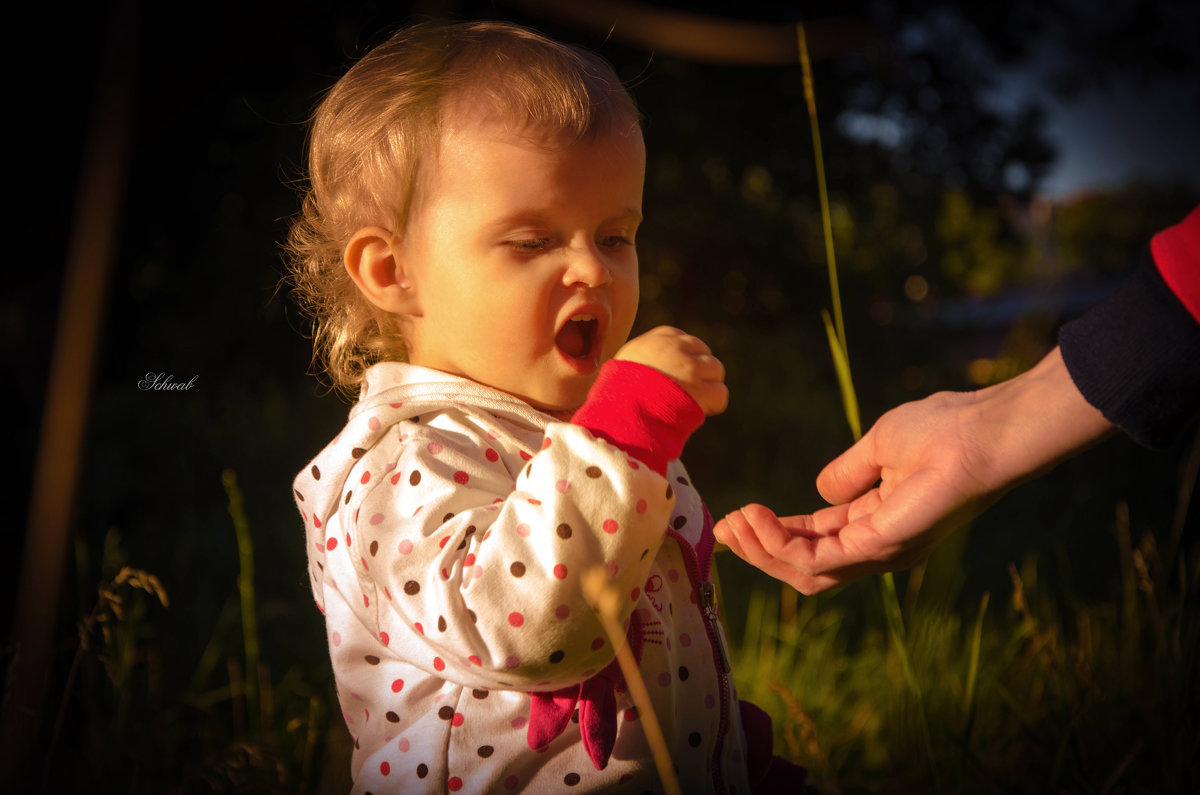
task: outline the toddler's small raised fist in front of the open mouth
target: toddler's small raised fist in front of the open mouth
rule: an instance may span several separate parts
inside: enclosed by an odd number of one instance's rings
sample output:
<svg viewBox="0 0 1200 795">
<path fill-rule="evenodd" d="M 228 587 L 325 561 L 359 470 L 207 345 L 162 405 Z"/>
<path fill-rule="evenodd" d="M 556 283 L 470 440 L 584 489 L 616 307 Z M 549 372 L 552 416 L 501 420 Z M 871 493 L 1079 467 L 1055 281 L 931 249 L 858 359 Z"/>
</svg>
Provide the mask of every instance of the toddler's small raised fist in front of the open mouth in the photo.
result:
<svg viewBox="0 0 1200 795">
<path fill-rule="evenodd" d="M 613 358 L 637 361 L 670 376 L 707 417 L 720 414 L 730 405 L 725 365 L 703 340 L 677 328 L 660 325 L 634 337 Z"/>
</svg>

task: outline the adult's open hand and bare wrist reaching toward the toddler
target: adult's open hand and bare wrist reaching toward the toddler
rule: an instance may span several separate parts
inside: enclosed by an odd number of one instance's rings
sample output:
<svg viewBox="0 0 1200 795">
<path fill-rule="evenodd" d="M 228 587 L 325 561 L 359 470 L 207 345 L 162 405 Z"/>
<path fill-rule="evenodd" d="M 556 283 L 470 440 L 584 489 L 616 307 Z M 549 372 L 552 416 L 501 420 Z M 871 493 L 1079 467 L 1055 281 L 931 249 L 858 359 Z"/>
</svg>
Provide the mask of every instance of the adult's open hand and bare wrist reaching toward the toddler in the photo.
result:
<svg viewBox="0 0 1200 795">
<path fill-rule="evenodd" d="M 817 476 L 832 507 L 779 518 L 746 506 L 718 522 L 716 538 L 772 576 L 817 593 L 924 560 L 1010 488 L 1111 431 L 1055 348 L 1012 381 L 938 393 L 881 417 Z"/>
</svg>

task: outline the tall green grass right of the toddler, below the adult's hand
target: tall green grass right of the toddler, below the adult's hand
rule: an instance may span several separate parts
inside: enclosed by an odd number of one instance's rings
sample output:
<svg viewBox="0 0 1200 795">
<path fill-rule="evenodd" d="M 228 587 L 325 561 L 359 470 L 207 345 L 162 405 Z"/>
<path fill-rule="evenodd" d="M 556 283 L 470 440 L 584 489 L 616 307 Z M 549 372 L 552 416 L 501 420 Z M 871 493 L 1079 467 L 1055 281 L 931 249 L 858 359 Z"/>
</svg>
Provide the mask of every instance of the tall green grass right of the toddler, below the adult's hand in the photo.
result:
<svg viewBox="0 0 1200 795">
<path fill-rule="evenodd" d="M 762 588 L 738 689 L 830 793 L 1200 791 L 1200 561 L 1162 569 L 1153 536 L 1134 545 L 1114 521 L 1116 596 L 1051 593 L 1033 557 L 1002 604 L 941 586 L 906 616 L 908 673 L 862 591 L 804 599 L 785 623 Z M 872 618 L 852 632 L 856 611 Z"/>
</svg>

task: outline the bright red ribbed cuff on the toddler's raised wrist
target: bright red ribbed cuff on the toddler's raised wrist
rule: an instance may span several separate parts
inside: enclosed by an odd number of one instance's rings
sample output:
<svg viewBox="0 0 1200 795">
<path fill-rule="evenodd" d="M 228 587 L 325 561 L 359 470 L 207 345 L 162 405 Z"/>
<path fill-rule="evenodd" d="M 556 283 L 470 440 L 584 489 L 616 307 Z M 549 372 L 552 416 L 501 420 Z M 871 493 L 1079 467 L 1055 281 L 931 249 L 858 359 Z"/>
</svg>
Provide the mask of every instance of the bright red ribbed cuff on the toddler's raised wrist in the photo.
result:
<svg viewBox="0 0 1200 795">
<path fill-rule="evenodd" d="M 670 376 L 654 367 L 613 359 L 571 422 L 616 444 L 659 474 L 683 453 L 704 412 Z"/>
</svg>

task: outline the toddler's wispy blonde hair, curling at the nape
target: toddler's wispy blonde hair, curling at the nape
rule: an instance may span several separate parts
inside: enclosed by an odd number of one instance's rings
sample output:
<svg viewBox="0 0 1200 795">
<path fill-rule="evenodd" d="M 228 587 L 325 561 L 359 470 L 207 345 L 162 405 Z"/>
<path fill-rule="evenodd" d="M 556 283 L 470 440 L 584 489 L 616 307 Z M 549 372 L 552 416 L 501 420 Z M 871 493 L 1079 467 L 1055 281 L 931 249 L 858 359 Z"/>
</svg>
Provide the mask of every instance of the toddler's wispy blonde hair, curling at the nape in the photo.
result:
<svg viewBox="0 0 1200 795">
<path fill-rule="evenodd" d="M 510 23 L 422 23 L 354 64 L 313 114 L 304 205 L 286 246 L 314 359 L 347 395 L 372 364 L 404 360 L 406 345 L 397 318 L 354 285 L 346 245 L 367 226 L 403 234 L 450 101 L 566 142 L 640 122 L 607 61 Z"/>
</svg>

